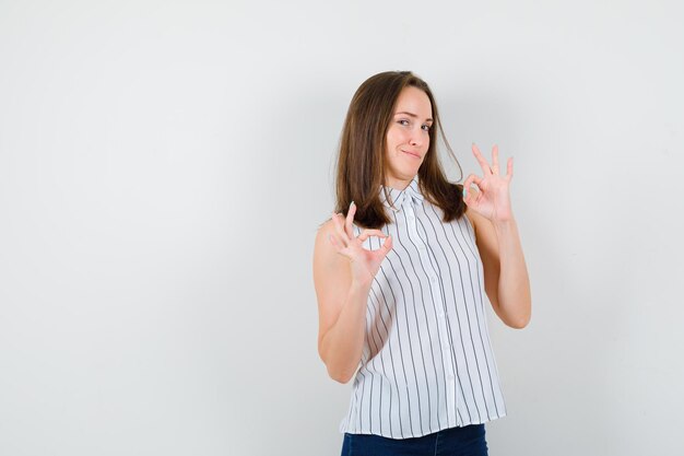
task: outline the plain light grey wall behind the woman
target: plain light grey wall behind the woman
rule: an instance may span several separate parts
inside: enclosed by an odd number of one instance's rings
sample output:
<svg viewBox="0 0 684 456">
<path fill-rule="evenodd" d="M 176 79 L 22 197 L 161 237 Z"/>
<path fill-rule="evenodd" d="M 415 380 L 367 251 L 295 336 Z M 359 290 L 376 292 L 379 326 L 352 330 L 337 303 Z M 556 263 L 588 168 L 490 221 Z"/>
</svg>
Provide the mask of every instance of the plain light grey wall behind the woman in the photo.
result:
<svg viewBox="0 0 684 456">
<path fill-rule="evenodd" d="M 334 455 L 314 236 L 367 77 L 498 143 L 533 291 L 492 455 L 681 451 L 677 1 L 0 2 L 0 454 Z M 458 177 L 451 169 L 451 176 Z"/>
</svg>

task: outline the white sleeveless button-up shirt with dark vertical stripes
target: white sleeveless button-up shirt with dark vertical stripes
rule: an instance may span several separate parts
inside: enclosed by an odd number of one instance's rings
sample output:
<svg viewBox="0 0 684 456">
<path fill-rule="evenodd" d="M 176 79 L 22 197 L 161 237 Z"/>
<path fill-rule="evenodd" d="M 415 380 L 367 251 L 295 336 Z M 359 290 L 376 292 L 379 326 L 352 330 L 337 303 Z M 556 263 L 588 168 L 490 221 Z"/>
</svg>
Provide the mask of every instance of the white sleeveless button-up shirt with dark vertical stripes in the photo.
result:
<svg viewBox="0 0 684 456">
<path fill-rule="evenodd" d="M 393 247 L 366 309 L 366 338 L 341 432 L 408 439 L 506 416 L 468 217 L 449 223 L 420 191 L 380 189 Z M 356 235 L 361 229 L 354 225 Z M 380 247 L 370 237 L 364 247 Z"/>
</svg>

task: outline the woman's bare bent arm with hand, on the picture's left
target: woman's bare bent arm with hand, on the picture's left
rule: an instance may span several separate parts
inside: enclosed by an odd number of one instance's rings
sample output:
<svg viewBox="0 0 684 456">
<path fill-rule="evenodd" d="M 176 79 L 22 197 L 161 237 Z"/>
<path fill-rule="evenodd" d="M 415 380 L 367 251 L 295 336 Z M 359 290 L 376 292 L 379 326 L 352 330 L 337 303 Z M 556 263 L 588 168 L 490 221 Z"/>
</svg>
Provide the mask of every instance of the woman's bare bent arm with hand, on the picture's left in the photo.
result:
<svg viewBox="0 0 684 456">
<path fill-rule="evenodd" d="M 355 207 L 346 219 L 333 214 L 316 235 L 314 284 L 318 299 L 318 353 L 331 378 L 349 382 L 361 361 L 366 330 L 366 305 L 373 279 L 392 247 L 387 238 L 377 250 L 366 250 L 369 236 L 387 237 L 379 230 L 364 230 L 355 237 Z"/>
</svg>

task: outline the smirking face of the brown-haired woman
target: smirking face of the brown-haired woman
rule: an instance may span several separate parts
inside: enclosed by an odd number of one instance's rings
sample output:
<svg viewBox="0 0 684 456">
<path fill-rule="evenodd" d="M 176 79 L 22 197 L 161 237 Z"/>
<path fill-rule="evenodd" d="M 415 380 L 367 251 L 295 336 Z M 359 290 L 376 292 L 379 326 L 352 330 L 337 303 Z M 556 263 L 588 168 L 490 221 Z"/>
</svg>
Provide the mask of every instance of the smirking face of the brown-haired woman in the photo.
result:
<svg viewBox="0 0 684 456">
<path fill-rule="evenodd" d="M 422 90 L 408 86 L 399 94 L 387 131 L 386 186 L 404 189 L 418 173 L 429 147 L 433 107 Z"/>
</svg>

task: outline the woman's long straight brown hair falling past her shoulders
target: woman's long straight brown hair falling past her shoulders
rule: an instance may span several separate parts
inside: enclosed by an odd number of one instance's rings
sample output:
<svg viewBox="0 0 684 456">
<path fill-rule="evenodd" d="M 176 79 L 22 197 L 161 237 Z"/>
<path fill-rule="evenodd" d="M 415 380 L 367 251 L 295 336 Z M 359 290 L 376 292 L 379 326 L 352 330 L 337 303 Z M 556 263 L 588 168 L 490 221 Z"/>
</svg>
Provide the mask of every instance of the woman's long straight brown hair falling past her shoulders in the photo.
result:
<svg viewBox="0 0 684 456">
<path fill-rule="evenodd" d="M 359 226 L 379 229 L 391 222 L 380 200 L 380 188 L 386 183 L 386 138 L 397 98 L 406 86 L 425 92 L 437 127 L 429 129 L 429 147 L 418 168 L 421 192 L 443 210 L 445 222 L 459 219 L 465 210 L 463 187 L 447 180 L 437 156 L 439 130 L 447 152 L 462 174 L 444 135 L 432 91 L 425 81 L 410 71 L 387 71 L 361 84 L 350 103 L 340 140 L 335 212 L 346 214 L 350 203 L 354 201 L 354 222 Z"/>
</svg>

